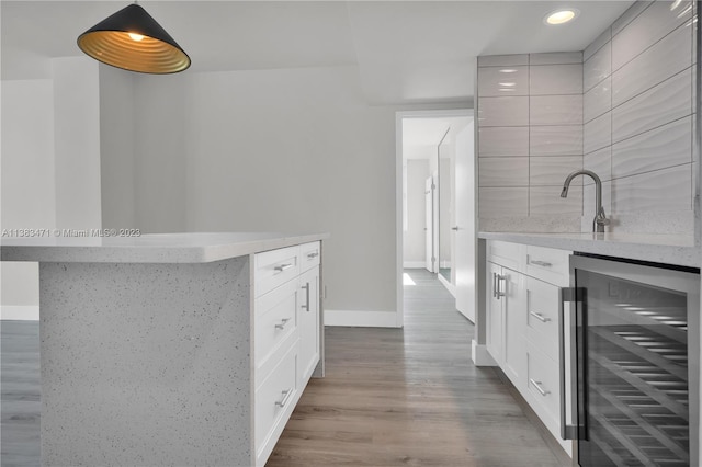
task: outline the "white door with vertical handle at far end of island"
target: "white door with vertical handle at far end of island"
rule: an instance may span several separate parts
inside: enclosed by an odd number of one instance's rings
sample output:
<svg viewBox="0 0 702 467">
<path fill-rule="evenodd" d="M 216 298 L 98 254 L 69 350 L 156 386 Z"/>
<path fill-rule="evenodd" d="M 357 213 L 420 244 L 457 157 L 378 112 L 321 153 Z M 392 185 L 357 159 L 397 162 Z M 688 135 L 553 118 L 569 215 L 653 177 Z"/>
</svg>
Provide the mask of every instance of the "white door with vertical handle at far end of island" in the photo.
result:
<svg viewBox="0 0 702 467">
<path fill-rule="evenodd" d="M 304 387 L 319 362 L 319 266 L 299 276 L 299 387 Z"/>
</svg>

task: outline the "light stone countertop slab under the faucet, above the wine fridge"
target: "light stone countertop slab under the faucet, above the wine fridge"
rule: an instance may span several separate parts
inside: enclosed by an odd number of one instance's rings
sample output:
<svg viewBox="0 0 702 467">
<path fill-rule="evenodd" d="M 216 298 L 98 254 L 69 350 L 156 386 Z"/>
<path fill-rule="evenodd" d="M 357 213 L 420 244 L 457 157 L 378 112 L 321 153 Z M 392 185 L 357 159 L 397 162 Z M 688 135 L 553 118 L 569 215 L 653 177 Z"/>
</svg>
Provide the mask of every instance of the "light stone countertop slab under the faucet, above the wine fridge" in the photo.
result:
<svg viewBox="0 0 702 467">
<path fill-rule="evenodd" d="M 478 232 L 478 238 L 678 266 L 700 267 L 702 264 L 700 249 L 693 246 L 655 244 L 626 239 L 577 239 L 554 234 Z"/>
</svg>

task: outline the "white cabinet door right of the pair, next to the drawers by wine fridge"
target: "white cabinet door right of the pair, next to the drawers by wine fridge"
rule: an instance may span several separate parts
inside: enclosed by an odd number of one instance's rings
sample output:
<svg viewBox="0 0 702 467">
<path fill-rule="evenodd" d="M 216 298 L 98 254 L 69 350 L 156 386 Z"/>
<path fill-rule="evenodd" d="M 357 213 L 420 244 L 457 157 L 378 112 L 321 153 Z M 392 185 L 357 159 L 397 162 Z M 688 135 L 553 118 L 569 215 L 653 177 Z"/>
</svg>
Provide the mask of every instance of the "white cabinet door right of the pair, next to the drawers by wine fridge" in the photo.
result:
<svg viewBox="0 0 702 467">
<path fill-rule="evenodd" d="M 502 369 L 514 387 L 526 387 L 526 285 L 523 274 L 502 270 L 505 310 L 505 345 Z"/>
</svg>

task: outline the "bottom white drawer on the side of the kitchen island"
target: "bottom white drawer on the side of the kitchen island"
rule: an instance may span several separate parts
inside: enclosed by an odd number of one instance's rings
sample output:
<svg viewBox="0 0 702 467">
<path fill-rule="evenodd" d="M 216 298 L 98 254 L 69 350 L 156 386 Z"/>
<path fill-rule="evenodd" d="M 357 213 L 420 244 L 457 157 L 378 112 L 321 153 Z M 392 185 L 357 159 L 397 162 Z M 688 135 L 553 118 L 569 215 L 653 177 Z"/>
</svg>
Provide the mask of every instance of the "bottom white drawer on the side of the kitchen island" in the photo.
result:
<svg viewBox="0 0 702 467">
<path fill-rule="evenodd" d="M 297 346 L 292 345 L 254 394 L 257 465 L 273 449 L 293 412 L 297 390 Z"/>
</svg>

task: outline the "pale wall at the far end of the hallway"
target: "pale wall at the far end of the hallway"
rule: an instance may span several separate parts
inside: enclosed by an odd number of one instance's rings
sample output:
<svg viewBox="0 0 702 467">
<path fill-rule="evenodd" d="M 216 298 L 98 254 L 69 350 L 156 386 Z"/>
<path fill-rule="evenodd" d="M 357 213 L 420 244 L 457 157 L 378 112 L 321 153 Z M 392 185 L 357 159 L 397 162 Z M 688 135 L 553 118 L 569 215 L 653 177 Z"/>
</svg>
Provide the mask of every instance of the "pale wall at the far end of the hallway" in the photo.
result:
<svg viewBox="0 0 702 467">
<path fill-rule="evenodd" d="M 403 261 L 406 267 L 424 267 L 427 257 L 426 181 L 429 178 L 429 160 L 407 161 L 407 230 L 404 232 Z"/>
</svg>

